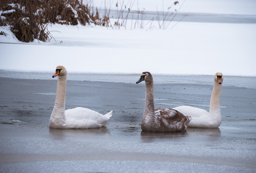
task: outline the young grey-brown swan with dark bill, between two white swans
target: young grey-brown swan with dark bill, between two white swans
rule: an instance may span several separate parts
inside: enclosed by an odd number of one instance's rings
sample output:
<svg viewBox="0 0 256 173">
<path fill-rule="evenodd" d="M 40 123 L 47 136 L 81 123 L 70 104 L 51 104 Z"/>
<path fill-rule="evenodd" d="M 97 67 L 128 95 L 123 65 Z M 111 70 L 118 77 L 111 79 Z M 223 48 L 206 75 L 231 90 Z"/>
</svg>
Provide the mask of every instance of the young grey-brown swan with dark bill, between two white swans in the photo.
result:
<svg viewBox="0 0 256 173">
<path fill-rule="evenodd" d="M 141 128 L 147 132 L 182 132 L 190 122 L 188 116 L 172 108 L 154 109 L 154 82 L 149 72 L 143 72 L 137 84 L 145 80 L 145 107 Z"/>
</svg>

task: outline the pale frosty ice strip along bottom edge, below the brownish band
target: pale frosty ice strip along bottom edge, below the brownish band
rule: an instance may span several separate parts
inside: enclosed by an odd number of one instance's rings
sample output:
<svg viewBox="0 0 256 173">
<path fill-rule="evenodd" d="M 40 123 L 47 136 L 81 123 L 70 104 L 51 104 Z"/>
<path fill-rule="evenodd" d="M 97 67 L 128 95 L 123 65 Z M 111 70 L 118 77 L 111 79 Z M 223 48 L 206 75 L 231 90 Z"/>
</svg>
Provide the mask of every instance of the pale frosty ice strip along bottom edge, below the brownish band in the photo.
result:
<svg viewBox="0 0 256 173">
<path fill-rule="evenodd" d="M 117 161 L 117 160 L 67 160 L 37 161 L 0 164 L 1 172 L 111 172 L 111 173 L 170 173 L 174 172 L 254 172 L 255 168 L 206 165 L 199 163 L 156 162 L 156 161 Z M 43 170 L 43 171 L 42 171 Z"/>
</svg>

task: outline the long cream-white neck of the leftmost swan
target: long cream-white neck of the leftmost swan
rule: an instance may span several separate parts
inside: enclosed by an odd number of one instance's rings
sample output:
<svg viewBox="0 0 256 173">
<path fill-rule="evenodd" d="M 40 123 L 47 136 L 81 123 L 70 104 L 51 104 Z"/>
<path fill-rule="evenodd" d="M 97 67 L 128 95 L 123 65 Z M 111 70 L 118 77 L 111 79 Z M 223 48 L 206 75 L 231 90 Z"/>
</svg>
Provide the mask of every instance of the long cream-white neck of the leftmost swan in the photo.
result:
<svg viewBox="0 0 256 173">
<path fill-rule="evenodd" d="M 65 97 L 66 97 L 66 75 L 58 76 L 58 85 L 55 104 L 50 117 L 50 127 L 64 124 L 65 118 Z"/>
</svg>

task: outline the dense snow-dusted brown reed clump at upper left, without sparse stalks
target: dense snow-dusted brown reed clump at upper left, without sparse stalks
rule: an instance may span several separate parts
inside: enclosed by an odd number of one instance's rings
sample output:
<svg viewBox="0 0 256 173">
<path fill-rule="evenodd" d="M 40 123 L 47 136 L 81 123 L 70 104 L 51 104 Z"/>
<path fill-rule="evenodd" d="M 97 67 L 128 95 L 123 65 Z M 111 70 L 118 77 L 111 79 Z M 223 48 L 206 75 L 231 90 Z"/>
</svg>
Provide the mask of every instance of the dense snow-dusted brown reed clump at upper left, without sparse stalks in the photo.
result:
<svg viewBox="0 0 256 173">
<path fill-rule="evenodd" d="M 83 4 L 82 0 L 1 0 L 0 10 L 0 26 L 10 26 L 17 39 L 26 43 L 52 39 L 48 23 L 110 25 L 106 13 L 100 18 L 98 10 L 94 12 L 92 1 Z"/>
</svg>

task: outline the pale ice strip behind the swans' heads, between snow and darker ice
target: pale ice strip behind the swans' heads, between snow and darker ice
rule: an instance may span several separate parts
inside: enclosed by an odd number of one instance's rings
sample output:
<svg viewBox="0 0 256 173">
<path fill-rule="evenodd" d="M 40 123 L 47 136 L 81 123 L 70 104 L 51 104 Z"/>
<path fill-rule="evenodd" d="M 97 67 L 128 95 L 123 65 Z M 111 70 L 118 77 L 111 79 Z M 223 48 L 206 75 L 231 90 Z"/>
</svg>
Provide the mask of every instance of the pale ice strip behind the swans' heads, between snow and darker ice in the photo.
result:
<svg viewBox="0 0 256 173">
<path fill-rule="evenodd" d="M 0 70 L 0 77 L 20 79 L 51 79 L 53 72 L 28 72 Z M 202 84 L 213 85 L 214 75 L 177 75 L 177 74 L 152 74 L 155 84 Z M 256 89 L 256 77 L 224 76 L 224 86 L 236 86 Z M 136 83 L 140 74 L 115 74 L 115 73 L 68 73 L 67 80 L 96 81 L 96 82 L 122 82 Z"/>
</svg>

